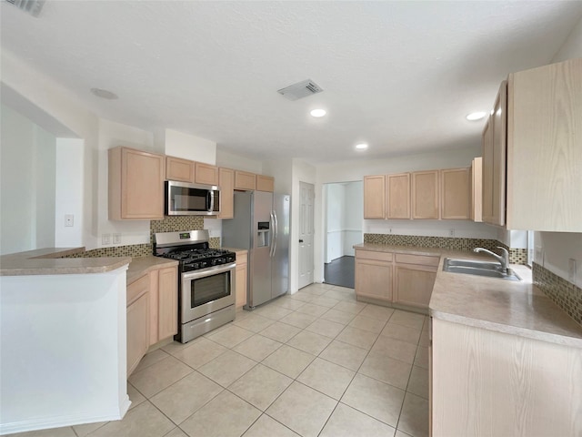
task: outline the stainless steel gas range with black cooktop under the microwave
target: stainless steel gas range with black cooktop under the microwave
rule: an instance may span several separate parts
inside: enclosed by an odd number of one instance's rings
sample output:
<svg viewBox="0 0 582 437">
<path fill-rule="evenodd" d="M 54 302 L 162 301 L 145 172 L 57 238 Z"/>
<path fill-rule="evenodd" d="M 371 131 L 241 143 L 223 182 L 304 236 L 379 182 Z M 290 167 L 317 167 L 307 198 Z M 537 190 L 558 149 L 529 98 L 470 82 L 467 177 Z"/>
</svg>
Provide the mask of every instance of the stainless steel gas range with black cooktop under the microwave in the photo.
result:
<svg viewBox="0 0 582 437">
<path fill-rule="evenodd" d="M 179 261 L 176 340 L 186 343 L 235 320 L 235 252 L 210 249 L 207 230 L 154 238 L 156 256 Z"/>
</svg>

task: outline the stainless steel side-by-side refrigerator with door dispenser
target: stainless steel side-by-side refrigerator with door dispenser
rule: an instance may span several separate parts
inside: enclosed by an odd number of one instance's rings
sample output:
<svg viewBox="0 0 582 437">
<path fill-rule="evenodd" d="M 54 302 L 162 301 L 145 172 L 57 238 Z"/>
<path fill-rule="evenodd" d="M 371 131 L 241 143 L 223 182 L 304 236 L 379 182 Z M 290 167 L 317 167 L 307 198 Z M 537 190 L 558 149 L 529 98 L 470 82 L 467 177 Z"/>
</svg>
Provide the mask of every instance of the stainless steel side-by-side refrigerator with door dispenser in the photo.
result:
<svg viewBox="0 0 582 437">
<path fill-rule="evenodd" d="M 222 222 L 223 246 L 248 249 L 246 310 L 289 290 L 291 196 L 236 191 L 235 218 Z"/>
</svg>

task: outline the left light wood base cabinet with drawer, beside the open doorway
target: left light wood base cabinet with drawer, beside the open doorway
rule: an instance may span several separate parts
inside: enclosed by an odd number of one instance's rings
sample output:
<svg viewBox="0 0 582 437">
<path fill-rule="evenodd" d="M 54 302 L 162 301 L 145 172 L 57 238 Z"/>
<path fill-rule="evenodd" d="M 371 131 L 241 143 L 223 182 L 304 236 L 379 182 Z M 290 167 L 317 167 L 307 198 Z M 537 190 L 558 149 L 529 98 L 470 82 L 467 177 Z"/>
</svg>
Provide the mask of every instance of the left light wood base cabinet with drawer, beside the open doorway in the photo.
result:
<svg viewBox="0 0 582 437">
<path fill-rule="evenodd" d="M 392 300 L 392 254 L 356 250 L 356 295 Z"/>
</svg>

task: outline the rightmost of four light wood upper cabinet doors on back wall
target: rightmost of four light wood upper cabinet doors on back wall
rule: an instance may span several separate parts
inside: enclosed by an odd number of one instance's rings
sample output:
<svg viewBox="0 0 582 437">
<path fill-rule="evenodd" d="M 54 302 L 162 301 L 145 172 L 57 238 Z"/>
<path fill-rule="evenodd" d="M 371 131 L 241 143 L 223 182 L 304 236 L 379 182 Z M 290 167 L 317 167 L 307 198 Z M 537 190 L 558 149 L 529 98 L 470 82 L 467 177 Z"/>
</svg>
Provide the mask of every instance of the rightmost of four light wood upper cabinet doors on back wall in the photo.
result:
<svg viewBox="0 0 582 437">
<path fill-rule="evenodd" d="M 469 168 L 440 171 L 441 219 L 469 219 L 471 198 Z"/>
</svg>

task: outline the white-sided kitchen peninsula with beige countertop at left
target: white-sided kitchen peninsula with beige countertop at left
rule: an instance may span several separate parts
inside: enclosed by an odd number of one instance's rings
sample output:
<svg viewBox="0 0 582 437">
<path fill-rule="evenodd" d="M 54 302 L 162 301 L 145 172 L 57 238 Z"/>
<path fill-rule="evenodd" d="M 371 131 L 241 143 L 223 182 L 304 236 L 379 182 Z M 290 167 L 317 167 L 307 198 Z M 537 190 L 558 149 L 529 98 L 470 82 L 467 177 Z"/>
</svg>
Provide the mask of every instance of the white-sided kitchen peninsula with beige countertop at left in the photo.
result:
<svg viewBox="0 0 582 437">
<path fill-rule="evenodd" d="M 121 419 L 125 270 L 131 258 L 0 257 L 0 433 Z"/>
</svg>

